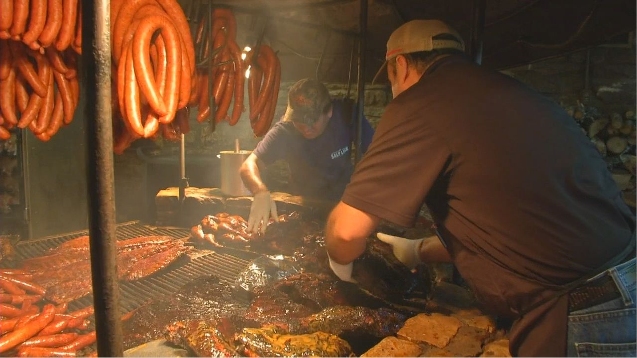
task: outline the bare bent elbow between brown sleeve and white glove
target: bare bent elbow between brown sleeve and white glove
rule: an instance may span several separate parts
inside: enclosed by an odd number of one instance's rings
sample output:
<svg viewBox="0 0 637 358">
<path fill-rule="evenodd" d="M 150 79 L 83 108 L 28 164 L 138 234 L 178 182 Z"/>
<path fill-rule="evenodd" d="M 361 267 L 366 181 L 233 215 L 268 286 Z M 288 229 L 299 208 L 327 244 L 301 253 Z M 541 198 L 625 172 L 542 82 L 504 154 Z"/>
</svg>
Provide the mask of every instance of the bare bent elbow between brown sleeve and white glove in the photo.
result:
<svg viewBox="0 0 637 358">
<path fill-rule="evenodd" d="M 378 221 L 376 216 L 339 202 L 327 219 L 326 245 L 330 258 L 347 265 L 361 256 Z"/>
</svg>

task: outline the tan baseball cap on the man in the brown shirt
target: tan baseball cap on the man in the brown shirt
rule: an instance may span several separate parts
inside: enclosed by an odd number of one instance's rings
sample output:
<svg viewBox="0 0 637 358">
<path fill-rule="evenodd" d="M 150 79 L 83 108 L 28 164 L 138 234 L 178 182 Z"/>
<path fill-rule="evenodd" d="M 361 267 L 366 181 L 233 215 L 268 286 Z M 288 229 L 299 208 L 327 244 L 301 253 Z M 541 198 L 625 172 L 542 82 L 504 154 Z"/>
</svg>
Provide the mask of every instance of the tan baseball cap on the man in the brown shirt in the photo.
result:
<svg viewBox="0 0 637 358">
<path fill-rule="evenodd" d="M 436 36 L 451 35 L 455 39 L 436 39 Z M 464 51 L 462 36 L 454 28 L 440 20 L 412 20 L 397 28 L 387 40 L 387 53 L 385 63 L 380 67 L 372 83 L 385 71 L 387 62 L 403 53 L 431 51 L 440 48 L 455 48 Z"/>
</svg>

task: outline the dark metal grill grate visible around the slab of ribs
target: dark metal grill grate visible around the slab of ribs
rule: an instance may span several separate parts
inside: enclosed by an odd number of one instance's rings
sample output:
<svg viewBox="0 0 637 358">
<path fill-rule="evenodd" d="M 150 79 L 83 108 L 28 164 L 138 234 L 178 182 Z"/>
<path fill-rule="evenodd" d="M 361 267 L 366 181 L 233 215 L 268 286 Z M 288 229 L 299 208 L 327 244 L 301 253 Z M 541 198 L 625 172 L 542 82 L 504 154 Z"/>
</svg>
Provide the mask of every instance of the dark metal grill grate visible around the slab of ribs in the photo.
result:
<svg viewBox="0 0 637 358">
<path fill-rule="evenodd" d="M 88 235 L 88 231 L 78 231 L 67 235 L 45 237 L 17 244 L 18 254 L 32 258 L 45 254 L 49 249 L 72 238 Z M 190 231 L 183 228 L 149 228 L 137 221 L 117 225 L 117 240 L 126 240 L 138 236 L 167 235 L 173 238 L 185 238 Z M 231 254 L 214 251 L 197 251 L 190 259 L 179 259 L 165 270 L 134 282 L 120 281 L 120 312 L 131 312 L 143 305 L 148 299 L 176 293 L 180 287 L 199 277 L 215 275 L 220 280 L 234 284 L 238 274 L 249 265 L 247 259 Z M 78 310 L 93 304 L 93 295 L 69 302 L 69 310 Z"/>
</svg>

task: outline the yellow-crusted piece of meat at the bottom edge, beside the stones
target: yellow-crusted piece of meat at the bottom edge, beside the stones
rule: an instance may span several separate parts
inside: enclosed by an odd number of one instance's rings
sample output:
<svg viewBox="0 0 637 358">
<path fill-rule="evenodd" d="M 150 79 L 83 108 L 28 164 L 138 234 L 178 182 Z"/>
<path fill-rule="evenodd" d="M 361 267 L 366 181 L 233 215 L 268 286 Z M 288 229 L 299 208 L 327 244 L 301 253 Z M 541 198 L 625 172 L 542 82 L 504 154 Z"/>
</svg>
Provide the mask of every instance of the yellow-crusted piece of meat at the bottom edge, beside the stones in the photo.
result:
<svg viewBox="0 0 637 358">
<path fill-rule="evenodd" d="M 245 328 L 236 334 L 238 351 L 246 357 L 352 357 L 347 341 L 325 332 L 280 333 L 276 327 Z"/>
</svg>

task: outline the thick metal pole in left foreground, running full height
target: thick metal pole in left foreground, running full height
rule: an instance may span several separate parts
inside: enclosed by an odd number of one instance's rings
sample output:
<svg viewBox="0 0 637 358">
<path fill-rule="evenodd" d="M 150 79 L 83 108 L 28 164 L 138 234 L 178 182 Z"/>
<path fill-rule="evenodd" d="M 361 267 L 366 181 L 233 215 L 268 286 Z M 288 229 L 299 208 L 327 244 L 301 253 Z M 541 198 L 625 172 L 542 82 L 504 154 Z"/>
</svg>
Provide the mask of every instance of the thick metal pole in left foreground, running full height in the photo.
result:
<svg viewBox="0 0 637 358">
<path fill-rule="evenodd" d="M 100 357 L 122 357 L 113 188 L 110 1 L 82 0 L 82 9 L 90 266 L 97 353 Z"/>
</svg>

